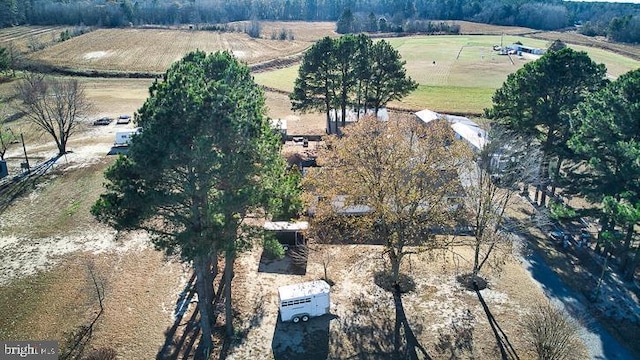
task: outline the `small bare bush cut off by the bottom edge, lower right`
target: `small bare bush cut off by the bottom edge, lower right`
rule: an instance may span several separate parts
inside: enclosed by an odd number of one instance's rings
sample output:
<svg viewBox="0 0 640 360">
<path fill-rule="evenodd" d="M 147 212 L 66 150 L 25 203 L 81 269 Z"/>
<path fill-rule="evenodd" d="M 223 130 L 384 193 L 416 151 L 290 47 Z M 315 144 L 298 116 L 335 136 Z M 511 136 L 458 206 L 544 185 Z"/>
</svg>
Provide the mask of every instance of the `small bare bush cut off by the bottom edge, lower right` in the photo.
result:
<svg viewBox="0 0 640 360">
<path fill-rule="evenodd" d="M 587 359 L 584 343 L 578 336 L 578 321 L 551 304 L 540 303 L 523 317 L 527 340 L 539 360 Z"/>
</svg>

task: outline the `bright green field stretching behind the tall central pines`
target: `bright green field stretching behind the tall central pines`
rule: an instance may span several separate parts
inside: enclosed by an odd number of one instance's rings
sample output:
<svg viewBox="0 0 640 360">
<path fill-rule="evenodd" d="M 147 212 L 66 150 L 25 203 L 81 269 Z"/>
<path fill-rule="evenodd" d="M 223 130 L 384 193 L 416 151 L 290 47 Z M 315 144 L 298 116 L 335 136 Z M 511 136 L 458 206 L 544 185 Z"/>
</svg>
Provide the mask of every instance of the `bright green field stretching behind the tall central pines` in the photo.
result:
<svg viewBox="0 0 640 360">
<path fill-rule="evenodd" d="M 407 74 L 420 87 L 402 102 L 392 105 L 414 109 L 429 108 L 450 113 L 482 113 L 491 105 L 491 96 L 507 76 L 531 59 L 497 55 L 493 45 L 522 42 L 526 46 L 546 48 L 549 42 L 521 36 L 451 35 L 415 36 L 387 39 L 407 62 Z M 591 58 L 607 66 L 609 74 L 620 76 L 640 67 L 640 62 L 616 53 L 585 46 Z M 293 90 L 298 66 L 258 73 L 258 84 Z"/>
</svg>

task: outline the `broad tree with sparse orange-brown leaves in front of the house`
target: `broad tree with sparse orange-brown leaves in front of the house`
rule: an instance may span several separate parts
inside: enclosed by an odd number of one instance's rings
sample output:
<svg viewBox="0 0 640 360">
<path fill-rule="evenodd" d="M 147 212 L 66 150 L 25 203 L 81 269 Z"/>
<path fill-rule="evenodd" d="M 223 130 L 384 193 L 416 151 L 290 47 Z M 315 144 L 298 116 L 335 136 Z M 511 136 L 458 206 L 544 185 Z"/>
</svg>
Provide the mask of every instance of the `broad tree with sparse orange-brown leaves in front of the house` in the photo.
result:
<svg viewBox="0 0 640 360">
<path fill-rule="evenodd" d="M 441 246 L 434 229 L 454 223 L 460 184 L 457 169 L 468 156 L 449 124 L 365 117 L 329 137 L 323 166 L 305 181 L 321 199 L 316 221 L 340 218 L 363 242 L 383 243 L 392 283 L 402 260 Z"/>
</svg>

